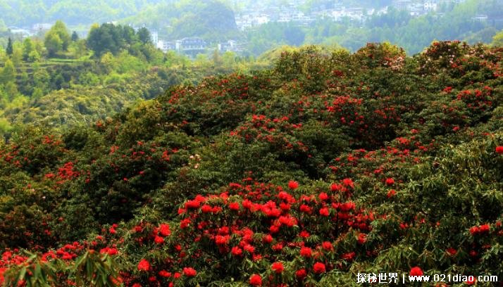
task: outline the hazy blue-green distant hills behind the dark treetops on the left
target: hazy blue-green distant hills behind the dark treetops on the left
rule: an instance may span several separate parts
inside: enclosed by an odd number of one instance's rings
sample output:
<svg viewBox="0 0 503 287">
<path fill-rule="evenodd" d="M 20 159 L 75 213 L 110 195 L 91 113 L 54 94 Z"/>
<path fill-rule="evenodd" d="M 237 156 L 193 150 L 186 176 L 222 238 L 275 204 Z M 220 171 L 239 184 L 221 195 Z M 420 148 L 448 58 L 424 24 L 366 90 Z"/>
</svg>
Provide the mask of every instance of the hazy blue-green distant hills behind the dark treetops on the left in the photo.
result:
<svg viewBox="0 0 503 287">
<path fill-rule="evenodd" d="M 162 30 L 174 39 L 237 34 L 232 8 L 217 0 L 0 0 L 0 15 L 8 27 L 56 20 L 70 26 L 120 21 Z"/>
</svg>

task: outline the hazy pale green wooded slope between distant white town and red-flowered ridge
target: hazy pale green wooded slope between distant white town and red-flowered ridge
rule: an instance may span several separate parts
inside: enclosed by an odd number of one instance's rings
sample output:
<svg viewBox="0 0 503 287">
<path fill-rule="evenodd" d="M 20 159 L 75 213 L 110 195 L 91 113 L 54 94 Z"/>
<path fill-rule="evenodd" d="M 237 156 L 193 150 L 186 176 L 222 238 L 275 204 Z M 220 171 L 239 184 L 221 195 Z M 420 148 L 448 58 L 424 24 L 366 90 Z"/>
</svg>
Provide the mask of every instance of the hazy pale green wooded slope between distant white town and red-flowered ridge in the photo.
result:
<svg viewBox="0 0 503 287">
<path fill-rule="evenodd" d="M 318 1 L 310 1 L 311 8 Z M 323 1 L 320 1 L 323 3 Z M 351 7 L 347 1 L 345 5 Z M 387 1 L 390 4 L 392 1 Z M 318 4 L 321 5 L 321 4 Z M 325 4 L 328 5 L 328 4 Z M 353 4 L 361 7 L 364 3 Z M 374 5 L 377 5 L 376 3 Z M 473 20 L 476 15 L 488 15 L 487 22 Z M 316 18 L 308 26 L 292 23 L 266 23 L 247 30 L 252 53 L 264 53 L 280 44 L 325 44 L 356 51 L 367 42 L 390 42 L 402 46 L 409 55 L 419 53 L 434 40 L 464 40 L 470 44 L 490 43 L 503 29 L 502 0 L 466 0 L 445 11 L 414 17 L 409 11 L 390 6 L 387 13 L 375 13 L 363 23 L 343 18 Z"/>
</svg>

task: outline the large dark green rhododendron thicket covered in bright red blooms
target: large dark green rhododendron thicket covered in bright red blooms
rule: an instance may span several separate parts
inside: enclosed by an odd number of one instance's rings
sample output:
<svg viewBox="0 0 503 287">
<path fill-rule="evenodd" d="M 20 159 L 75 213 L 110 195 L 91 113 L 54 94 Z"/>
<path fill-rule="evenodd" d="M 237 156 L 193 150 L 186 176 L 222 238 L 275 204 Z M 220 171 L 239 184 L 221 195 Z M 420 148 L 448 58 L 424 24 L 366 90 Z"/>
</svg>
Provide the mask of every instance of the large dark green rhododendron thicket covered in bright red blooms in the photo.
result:
<svg viewBox="0 0 503 287">
<path fill-rule="evenodd" d="M 503 278 L 502 59 L 311 46 L 91 127 L 27 127 L 0 144 L 0 282 Z"/>
</svg>

